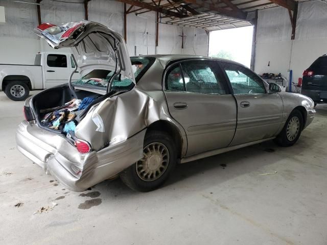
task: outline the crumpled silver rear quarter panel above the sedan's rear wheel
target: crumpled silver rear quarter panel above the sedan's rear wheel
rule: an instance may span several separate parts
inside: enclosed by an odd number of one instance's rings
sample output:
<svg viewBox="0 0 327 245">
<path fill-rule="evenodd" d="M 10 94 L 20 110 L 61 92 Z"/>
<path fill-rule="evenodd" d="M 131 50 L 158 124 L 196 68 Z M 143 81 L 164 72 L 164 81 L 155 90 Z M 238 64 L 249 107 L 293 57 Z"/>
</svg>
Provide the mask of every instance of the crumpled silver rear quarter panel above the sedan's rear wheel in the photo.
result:
<svg viewBox="0 0 327 245">
<path fill-rule="evenodd" d="M 94 106 L 77 125 L 75 134 L 99 151 L 103 145 L 122 142 L 158 120 L 169 121 L 182 130 L 169 116 L 164 97 L 163 91 L 145 92 L 135 86 Z M 99 124 L 94 118 L 101 118 L 103 132 L 97 131 Z"/>
</svg>

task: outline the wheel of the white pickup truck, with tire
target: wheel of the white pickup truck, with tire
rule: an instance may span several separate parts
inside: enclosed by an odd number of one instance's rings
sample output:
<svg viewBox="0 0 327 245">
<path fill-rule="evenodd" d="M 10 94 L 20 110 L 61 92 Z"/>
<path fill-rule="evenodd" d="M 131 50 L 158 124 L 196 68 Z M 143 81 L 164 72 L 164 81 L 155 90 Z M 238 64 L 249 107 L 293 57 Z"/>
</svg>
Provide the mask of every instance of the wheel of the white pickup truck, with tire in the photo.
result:
<svg viewBox="0 0 327 245">
<path fill-rule="evenodd" d="M 13 101 L 25 101 L 30 94 L 29 86 L 22 81 L 12 81 L 7 84 L 5 93 Z"/>
</svg>

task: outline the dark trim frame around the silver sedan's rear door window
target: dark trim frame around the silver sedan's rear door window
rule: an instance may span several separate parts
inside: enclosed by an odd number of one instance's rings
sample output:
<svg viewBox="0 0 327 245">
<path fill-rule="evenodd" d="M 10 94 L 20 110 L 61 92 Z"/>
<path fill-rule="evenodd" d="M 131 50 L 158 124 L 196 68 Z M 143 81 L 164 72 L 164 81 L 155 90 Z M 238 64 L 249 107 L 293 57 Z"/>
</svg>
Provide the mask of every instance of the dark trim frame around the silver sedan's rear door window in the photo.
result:
<svg viewBox="0 0 327 245">
<path fill-rule="evenodd" d="M 169 90 L 167 89 L 167 79 L 168 79 L 168 72 L 171 71 L 171 68 L 173 66 L 175 66 L 176 64 L 179 65 L 179 68 L 181 69 L 182 71 L 182 78 L 183 78 L 183 81 L 184 81 L 184 74 L 183 74 L 183 69 L 181 67 L 181 63 L 182 62 L 185 62 L 185 61 L 206 61 L 206 62 L 212 62 L 214 65 L 213 65 L 213 69 L 214 71 L 216 72 L 216 76 L 218 77 L 218 82 L 220 81 L 225 89 L 225 93 L 224 94 L 219 94 L 219 93 L 200 93 L 200 92 L 193 92 L 193 91 L 186 91 L 186 88 L 185 88 L 185 83 L 184 83 L 184 89 L 185 91 L 175 91 L 175 90 Z M 222 72 L 222 69 L 220 67 L 220 65 L 217 63 L 218 60 L 214 60 L 214 59 L 194 59 L 194 58 L 191 58 L 191 59 L 181 59 L 181 60 L 176 60 L 176 61 L 173 61 L 172 63 L 169 63 L 168 66 L 166 66 L 165 70 L 164 70 L 164 75 L 162 76 L 162 83 L 161 83 L 161 86 L 162 86 L 162 91 L 166 92 L 183 92 L 183 93 L 197 93 L 197 94 L 206 94 L 206 95 L 230 95 L 232 94 L 233 90 L 230 89 L 229 87 L 229 84 L 224 76 L 224 73 L 221 73 Z"/>
</svg>

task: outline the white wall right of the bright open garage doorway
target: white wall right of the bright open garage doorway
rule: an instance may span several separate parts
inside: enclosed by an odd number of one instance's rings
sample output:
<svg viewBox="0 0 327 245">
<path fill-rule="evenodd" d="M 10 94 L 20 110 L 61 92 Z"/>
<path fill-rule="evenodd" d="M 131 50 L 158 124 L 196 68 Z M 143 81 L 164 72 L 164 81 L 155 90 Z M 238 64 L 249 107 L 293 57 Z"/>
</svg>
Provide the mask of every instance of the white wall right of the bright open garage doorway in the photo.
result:
<svg viewBox="0 0 327 245">
<path fill-rule="evenodd" d="M 292 27 L 285 8 L 259 11 L 254 70 L 259 74 L 281 72 L 288 78 L 292 69 L 293 82 L 297 82 L 303 70 L 327 53 L 325 13 L 327 4 L 320 1 L 299 3 L 295 40 L 291 40 Z"/>
</svg>

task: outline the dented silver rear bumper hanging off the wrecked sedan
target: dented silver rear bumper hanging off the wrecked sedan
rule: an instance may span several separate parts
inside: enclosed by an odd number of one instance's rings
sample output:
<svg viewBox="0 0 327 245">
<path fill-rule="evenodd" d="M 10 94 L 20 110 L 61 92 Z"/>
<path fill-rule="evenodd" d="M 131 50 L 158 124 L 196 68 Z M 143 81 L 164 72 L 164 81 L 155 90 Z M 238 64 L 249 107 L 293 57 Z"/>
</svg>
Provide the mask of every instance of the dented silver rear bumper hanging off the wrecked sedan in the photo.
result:
<svg viewBox="0 0 327 245">
<path fill-rule="evenodd" d="M 83 191 L 143 157 L 146 129 L 108 147 L 80 154 L 64 137 L 23 121 L 16 132 L 17 149 L 74 191 Z M 80 173 L 76 173 L 80 169 Z"/>
</svg>

